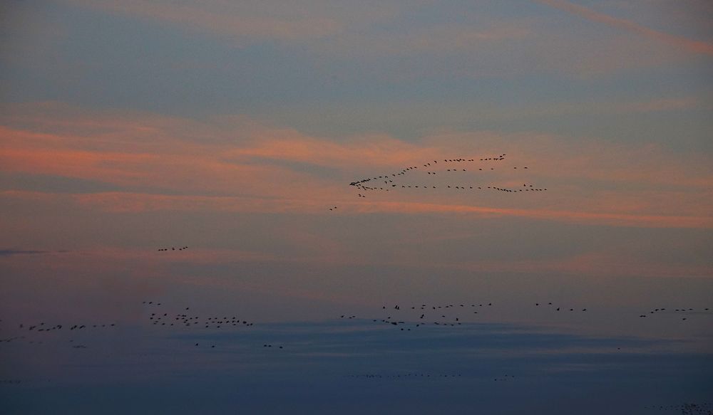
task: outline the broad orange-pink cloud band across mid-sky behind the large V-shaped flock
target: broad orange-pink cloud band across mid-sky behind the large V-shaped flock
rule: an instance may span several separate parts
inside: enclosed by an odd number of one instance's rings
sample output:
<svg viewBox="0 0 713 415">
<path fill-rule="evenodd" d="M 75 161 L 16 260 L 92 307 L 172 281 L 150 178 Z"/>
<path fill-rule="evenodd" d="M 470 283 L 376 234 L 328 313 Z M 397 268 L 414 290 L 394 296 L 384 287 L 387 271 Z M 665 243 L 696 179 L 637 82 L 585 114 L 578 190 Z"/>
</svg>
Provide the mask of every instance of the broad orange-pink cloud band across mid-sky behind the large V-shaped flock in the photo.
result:
<svg viewBox="0 0 713 415">
<path fill-rule="evenodd" d="M 713 211 L 707 158 L 672 154 L 656 145 L 493 132 L 438 132 L 414 142 L 387 135 L 329 140 L 245 117 L 199 122 L 145 114 L 86 115 L 46 104 L 34 111 L 31 105 L 10 106 L 7 125 L 0 127 L 0 171 L 122 187 L 72 196 L 75 203 L 101 211 L 324 214 L 325 206 L 338 203 L 339 214 L 460 213 L 684 228 L 708 228 Z M 497 171 L 471 171 L 458 180 L 500 187 L 528 182 L 550 190 L 505 196 L 397 187 L 356 199 L 358 190 L 348 186 L 434 159 L 501 153 L 508 157 Z M 529 169 L 513 169 L 518 165 Z M 399 184 L 422 184 L 428 178 L 422 170 L 401 177 Z"/>
</svg>

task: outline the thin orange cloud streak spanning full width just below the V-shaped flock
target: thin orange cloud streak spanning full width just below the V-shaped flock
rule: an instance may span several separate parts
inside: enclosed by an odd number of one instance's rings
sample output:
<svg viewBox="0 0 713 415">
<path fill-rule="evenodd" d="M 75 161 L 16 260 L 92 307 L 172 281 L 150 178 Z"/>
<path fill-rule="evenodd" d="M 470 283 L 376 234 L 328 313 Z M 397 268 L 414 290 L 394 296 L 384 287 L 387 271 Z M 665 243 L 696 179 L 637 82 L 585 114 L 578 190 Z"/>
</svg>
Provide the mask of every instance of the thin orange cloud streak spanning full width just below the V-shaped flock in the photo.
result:
<svg viewBox="0 0 713 415">
<path fill-rule="evenodd" d="M 29 191 L 2 191 L 0 197 L 35 201 L 69 201 L 85 209 L 109 213 L 142 213 L 150 211 L 232 212 L 253 214 L 325 214 L 325 199 L 289 199 L 231 196 L 172 196 L 103 192 L 96 194 L 43 194 Z M 332 199 L 334 200 L 334 199 Z M 353 202 L 338 199 L 339 212 L 334 215 L 358 214 L 457 214 L 461 219 L 519 217 L 560 221 L 574 224 L 633 226 L 647 228 L 713 228 L 710 216 L 676 216 L 641 213 L 610 213 L 564 209 L 511 209 L 472 204 L 437 204 L 417 201 Z"/>
</svg>

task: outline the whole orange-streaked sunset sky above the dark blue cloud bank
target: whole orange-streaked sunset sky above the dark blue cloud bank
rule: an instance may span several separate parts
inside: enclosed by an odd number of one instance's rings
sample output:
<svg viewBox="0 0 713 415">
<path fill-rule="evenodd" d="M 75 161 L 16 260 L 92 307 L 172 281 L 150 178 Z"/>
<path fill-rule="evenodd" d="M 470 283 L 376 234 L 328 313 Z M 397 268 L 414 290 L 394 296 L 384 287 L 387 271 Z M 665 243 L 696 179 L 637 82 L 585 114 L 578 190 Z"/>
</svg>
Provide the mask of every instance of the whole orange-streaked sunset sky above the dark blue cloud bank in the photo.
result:
<svg viewBox="0 0 713 415">
<path fill-rule="evenodd" d="M 713 317 L 613 317 L 713 306 L 710 1 L 37 0 L 0 21 L 5 321 L 492 299 L 513 308 L 490 322 L 545 324 L 516 305 L 549 299 L 600 310 L 571 333 L 695 337 L 710 362 Z"/>
</svg>

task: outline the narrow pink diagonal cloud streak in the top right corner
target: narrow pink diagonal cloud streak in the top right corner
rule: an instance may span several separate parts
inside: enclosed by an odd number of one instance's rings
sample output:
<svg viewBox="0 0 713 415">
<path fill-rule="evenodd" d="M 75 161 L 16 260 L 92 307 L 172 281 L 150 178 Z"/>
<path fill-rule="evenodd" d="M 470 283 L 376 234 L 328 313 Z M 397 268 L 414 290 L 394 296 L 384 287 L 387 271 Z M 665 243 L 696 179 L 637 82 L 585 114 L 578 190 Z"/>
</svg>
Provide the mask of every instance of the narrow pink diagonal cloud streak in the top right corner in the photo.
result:
<svg viewBox="0 0 713 415">
<path fill-rule="evenodd" d="M 678 48 L 684 48 L 685 50 L 693 53 L 701 53 L 704 55 L 713 55 L 713 44 L 694 41 L 689 38 L 684 38 L 681 36 L 673 36 L 669 33 L 664 33 L 661 31 L 655 31 L 651 28 L 641 26 L 638 23 L 626 19 L 619 19 L 616 17 L 608 16 L 606 14 L 593 11 L 585 6 L 580 6 L 578 4 L 570 3 L 565 0 L 536 0 L 542 4 L 547 4 L 548 6 L 555 7 L 556 9 L 568 11 L 571 14 L 576 14 L 577 16 L 583 17 L 590 21 L 597 21 L 599 23 L 605 23 L 608 26 L 615 28 L 622 28 L 626 31 L 632 33 L 637 33 L 647 38 L 653 39 L 655 41 L 660 41 L 666 43 L 670 46 L 676 46 Z"/>
</svg>

